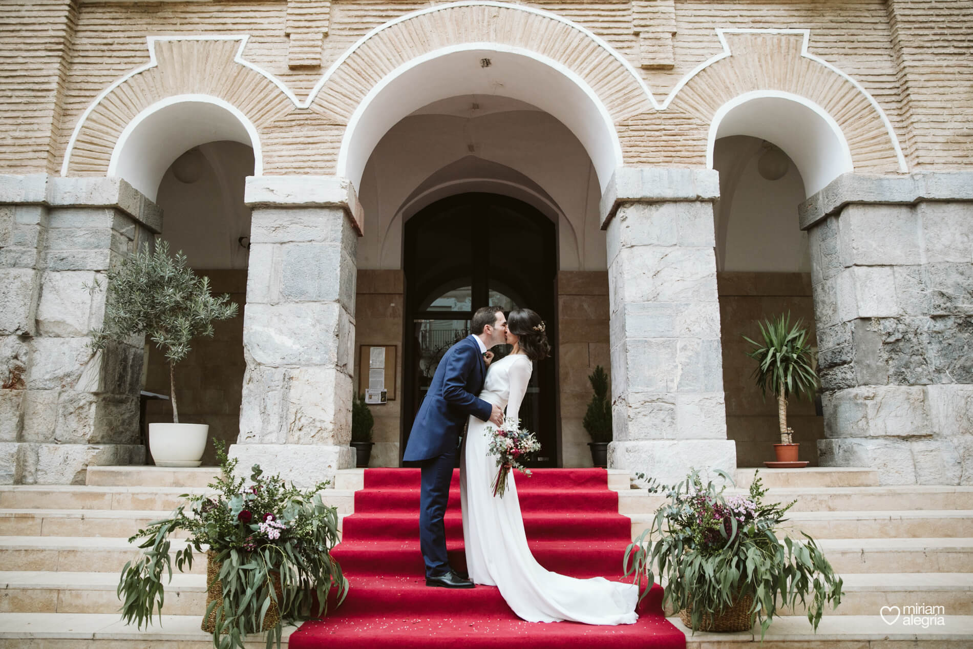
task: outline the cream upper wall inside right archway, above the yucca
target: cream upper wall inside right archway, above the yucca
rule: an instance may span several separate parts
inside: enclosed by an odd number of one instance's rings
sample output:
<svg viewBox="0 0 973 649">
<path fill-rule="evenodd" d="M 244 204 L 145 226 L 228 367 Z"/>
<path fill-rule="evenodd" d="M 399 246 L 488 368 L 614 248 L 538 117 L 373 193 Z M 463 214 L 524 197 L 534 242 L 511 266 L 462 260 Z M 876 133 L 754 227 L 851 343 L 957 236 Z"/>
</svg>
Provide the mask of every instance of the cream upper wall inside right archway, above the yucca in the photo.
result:
<svg viewBox="0 0 973 649">
<path fill-rule="evenodd" d="M 720 172 L 716 204 L 718 270 L 811 272 L 808 234 L 798 225 L 804 181 L 790 162 L 787 173 L 766 180 L 757 171 L 763 140 L 745 135 L 716 141 Z"/>
</svg>

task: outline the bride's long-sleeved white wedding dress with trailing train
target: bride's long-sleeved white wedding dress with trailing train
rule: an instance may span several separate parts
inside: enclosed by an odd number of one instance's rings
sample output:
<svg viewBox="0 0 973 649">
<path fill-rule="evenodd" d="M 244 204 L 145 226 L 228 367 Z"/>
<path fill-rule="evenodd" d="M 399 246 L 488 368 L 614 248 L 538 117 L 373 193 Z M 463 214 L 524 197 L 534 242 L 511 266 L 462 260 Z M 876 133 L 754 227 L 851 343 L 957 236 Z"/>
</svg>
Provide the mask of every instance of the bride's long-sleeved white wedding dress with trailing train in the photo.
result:
<svg viewBox="0 0 973 649">
<path fill-rule="evenodd" d="M 492 363 L 480 398 L 517 417 L 533 364 L 523 354 Z M 603 577 L 575 579 L 551 572 L 527 547 L 521 504 L 513 472 L 507 492 L 493 496 L 496 458 L 488 454 L 486 421 L 471 416 L 460 459 L 463 538 L 470 579 L 496 586 L 514 612 L 527 622 L 582 622 L 590 625 L 633 624 L 638 619 L 634 584 Z"/>
</svg>

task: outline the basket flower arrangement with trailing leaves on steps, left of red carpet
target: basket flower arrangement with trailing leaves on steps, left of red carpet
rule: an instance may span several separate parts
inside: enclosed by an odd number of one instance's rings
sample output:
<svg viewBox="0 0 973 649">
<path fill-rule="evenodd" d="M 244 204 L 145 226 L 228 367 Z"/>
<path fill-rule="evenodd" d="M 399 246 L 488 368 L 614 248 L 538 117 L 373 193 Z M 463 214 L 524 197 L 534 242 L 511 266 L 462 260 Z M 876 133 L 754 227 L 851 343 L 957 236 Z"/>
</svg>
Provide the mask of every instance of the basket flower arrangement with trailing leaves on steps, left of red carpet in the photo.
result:
<svg viewBox="0 0 973 649">
<path fill-rule="evenodd" d="M 333 588 L 339 605 L 347 595 L 348 582 L 331 557 L 339 541 L 338 509 L 321 501 L 327 483 L 288 487 L 256 464 L 248 487 L 244 478 L 234 479 L 237 460 L 227 457 L 223 442 L 216 442 L 216 451 L 221 475 L 209 487 L 217 493 L 183 494 L 188 504 L 128 539 L 142 540 L 143 552 L 122 569 L 122 617 L 141 629 L 157 611 L 162 623 L 163 570 L 172 580 L 169 537 L 182 529 L 189 538 L 176 552 L 180 571 L 192 568 L 194 550 L 208 550 L 202 630 L 213 634 L 213 646 L 243 649 L 247 633 L 269 631 L 268 649 L 274 641 L 279 647 L 284 624 L 325 615 Z"/>
</svg>

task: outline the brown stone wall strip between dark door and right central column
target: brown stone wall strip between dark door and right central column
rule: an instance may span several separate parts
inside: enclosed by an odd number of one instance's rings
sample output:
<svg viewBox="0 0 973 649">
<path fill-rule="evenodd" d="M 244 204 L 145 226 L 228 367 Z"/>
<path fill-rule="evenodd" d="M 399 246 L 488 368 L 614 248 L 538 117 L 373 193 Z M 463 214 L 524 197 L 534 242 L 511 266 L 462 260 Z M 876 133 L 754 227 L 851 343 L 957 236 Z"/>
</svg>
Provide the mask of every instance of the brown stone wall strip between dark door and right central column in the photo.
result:
<svg viewBox="0 0 973 649">
<path fill-rule="evenodd" d="M 611 376 L 607 271 L 558 273 L 558 323 L 559 466 L 592 466 L 582 420 L 594 394 L 588 375 L 600 365 Z"/>
</svg>

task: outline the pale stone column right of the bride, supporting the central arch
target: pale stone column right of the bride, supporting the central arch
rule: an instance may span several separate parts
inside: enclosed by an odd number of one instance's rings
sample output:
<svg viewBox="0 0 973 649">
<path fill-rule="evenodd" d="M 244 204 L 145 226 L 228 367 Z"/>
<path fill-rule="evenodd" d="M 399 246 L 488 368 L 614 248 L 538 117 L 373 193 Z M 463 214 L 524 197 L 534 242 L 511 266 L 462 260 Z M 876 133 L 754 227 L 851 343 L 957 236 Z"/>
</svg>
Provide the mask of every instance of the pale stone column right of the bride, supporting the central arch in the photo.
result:
<svg viewBox="0 0 973 649">
<path fill-rule="evenodd" d="M 713 252 L 715 171 L 619 168 L 607 229 L 614 441 L 609 466 L 671 484 L 736 469 L 726 438 Z"/>
</svg>

